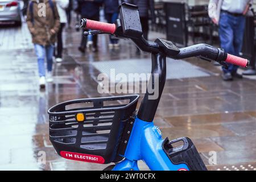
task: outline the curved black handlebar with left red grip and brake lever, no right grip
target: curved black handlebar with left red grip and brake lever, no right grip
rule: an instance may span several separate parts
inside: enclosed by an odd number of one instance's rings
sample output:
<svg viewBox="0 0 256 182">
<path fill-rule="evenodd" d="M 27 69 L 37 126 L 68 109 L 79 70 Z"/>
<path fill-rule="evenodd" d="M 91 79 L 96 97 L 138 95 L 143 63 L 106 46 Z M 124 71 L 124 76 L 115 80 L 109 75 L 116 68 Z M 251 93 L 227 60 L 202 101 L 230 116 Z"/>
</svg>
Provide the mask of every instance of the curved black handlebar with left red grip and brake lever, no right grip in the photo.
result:
<svg viewBox="0 0 256 182">
<path fill-rule="evenodd" d="M 92 20 L 81 19 L 81 27 L 85 28 L 86 23 L 92 22 L 91 26 L 101 26 L 101 22 L 96 22 Z M 226 53 L 223 49 L 215 48 L 213 46 L 209 46 L 207 44 L 196 44 L 194 46 L 185 47 L 185 48 L 177 48 L 172 42 L 162 39 L 156 39 L 155 42 L 148 41 L 141 36 L 132 36 L 132 35 L 125 35 L 122 31 L 121 23 L 118 23 L 117 20 L 116 24 L 107 24 L 102 23 L 102 27 L 99 29 L 101 30 L 108 30 L 108 31 L 99 31 L 93 30 L 90 32 L 84 32 L 84 35 L 96 35 L 96 34 L 112 34 L 110 32 L 114 32 L 113 35 L 117 36 L 118 38 L 128 38 L 133 40 L 133 42 L 144 52 L 150 53 L 163 53 L 163 55 L 171 57 L 173 59 L 185 59 L 188 57 L 195 57 L 199 56 L 204 60 L 208 61 L 217 61 L 218 63 L 226 66 L 224 63 L 226 59 Z M 110 30 L 111 31 L 110 31 Z M 114 31 L 115 30 L 115 31 Z"/>
</svg>

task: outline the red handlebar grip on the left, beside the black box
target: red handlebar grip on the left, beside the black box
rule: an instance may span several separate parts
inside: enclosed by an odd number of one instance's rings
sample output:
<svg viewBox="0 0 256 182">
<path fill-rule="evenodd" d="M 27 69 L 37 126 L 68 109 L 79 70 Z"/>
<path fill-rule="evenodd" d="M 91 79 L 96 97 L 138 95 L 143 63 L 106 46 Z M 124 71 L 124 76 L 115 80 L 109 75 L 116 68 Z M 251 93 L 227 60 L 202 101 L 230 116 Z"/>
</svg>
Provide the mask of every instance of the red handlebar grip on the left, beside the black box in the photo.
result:
<svg viewBox="0 0 256 182">
<path fill-rule="evenodd" d="M 85 28 L 92 29 L 92 30 L 100 30 L 102 32 L 114 34 L 116 27 L 115 24 L 98 22 L 90 19 L 86 19 L 86 26 Z"/>
</svg>

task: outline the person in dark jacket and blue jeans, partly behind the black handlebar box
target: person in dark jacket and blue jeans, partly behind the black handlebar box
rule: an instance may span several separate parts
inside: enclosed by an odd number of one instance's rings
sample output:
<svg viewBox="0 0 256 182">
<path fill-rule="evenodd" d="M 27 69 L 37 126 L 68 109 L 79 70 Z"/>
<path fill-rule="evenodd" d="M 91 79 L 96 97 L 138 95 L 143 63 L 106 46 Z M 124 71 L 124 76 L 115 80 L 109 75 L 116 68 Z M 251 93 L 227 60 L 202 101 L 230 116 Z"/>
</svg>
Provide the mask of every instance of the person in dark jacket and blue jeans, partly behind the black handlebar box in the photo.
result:
<svg viewBox="0 0 256 182">
<path fill-rule="evenodd" d="M 115 23 L 115 20 L 118 18 L 119 14 L 119 1 L 118 0 L 104 0 L 104 13 L 105 19 L 108 23 Z M 112 36 L 109 36 L 109 48 L 118 48 L 118 39 L 113 39 Z"/>
</svg>

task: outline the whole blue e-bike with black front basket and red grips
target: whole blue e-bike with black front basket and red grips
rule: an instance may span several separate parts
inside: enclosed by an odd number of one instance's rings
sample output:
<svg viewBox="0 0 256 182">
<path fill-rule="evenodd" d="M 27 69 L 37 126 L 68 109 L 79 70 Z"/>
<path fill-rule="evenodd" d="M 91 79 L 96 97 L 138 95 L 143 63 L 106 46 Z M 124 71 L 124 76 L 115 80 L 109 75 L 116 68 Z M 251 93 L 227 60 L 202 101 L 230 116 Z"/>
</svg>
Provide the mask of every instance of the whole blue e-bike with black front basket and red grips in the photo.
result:
<svg viewBox="0 0 256 182">
<path fill-rule="evenodd" d="M 138 95 L 85 98 L 57 104 L 48 110 L 49 139 L 56 152 L 66 159 L 99 164 L 115 163 L 106 169 L 114 171 L 139 170 L 138 160 L 143 160 L 151 170 L 205 171 L 191 139 L 163 139 L 154 117 L 166 81 L 166 57 L 184 59 L 198 56 L 203 60 L 217 61 L 227 66 L 234 63 L 247 67 L 249 61 L 228 55 L 223 49 L 197 44 L 177 48 L 163 39 L 149 42 L 142 36 L 138 7 L 123 3 L 121 18 L 114 24 L 82 19 L 82 28 L 89 34 L 112 34 L 129 38 L 144 52 L 152 54 L 151 79 L 159 77 L 156 99 L 148 90 L 139 110 L 136 111 Z M 152 79 L 154 80 L 154 79 Z M 150 82 L 151 88 L 156 86 Z M 180 143 L 177 145 L 177 143 Z"/>
</svg>

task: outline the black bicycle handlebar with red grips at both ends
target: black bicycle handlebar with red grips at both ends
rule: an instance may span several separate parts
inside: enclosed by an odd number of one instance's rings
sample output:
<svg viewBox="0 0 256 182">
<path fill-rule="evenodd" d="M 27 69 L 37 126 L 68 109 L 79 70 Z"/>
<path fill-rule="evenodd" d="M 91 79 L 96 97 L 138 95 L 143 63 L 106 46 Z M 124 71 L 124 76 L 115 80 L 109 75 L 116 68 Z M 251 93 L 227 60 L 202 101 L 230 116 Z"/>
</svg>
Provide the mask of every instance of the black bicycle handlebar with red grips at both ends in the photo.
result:
<svg viewBox="0 0 256 182">
<path fill-rule="evenodd" d="M 117 32 L 117 25 L 116 24 L 110 24 L 105 22 L 98 22 L 90 19 L 81 19 L 80 20 L 80 26 L 82 28 L 87 28 L 91 30 L 98 30 L 102 33 L 106 34 L 118 34 Z M 132 37 L 126 37 L 124 35 L 115 35 L 118 37 L 124 37 L 124 38 L 130 38 L 132 39 L 135 44 L 139 48 L 141 48 L 143 51 L 146 52 L 152 52 L 152 53 L 158 53 L 158 52 L 165 52 L 163 49 L 168 49 L 167 47 L 160 47 L 158 43 L 156 42 L 148 42 L 143 38 L 132 38 Z M 162 49 L 162 50 L 161 50 Z M 226 65 L 226 63 L 238 65 L 240 67 L 247 68 L 249 66 L 249 60 L 243 59 L 241 57 L 237 57 L 234 55 L 230 55 L 226 53 L 223 49 L 216 48 L 213 46 L 209 46 L 207 44 L 196 44 L 193 46 L 180 48 L 180 52 L 177 55 L 166 55 L 169 57 L 172 57 L 174 59 L 184 59 L 188 57 L 195 57 L 195 56 L 201 56 L 206 60 L 214 60 L 222 65 Z"/>
</svg>

